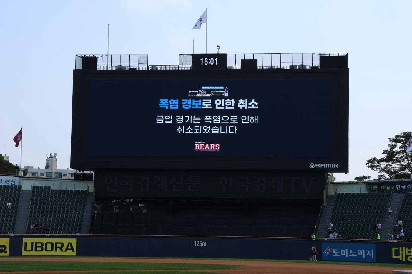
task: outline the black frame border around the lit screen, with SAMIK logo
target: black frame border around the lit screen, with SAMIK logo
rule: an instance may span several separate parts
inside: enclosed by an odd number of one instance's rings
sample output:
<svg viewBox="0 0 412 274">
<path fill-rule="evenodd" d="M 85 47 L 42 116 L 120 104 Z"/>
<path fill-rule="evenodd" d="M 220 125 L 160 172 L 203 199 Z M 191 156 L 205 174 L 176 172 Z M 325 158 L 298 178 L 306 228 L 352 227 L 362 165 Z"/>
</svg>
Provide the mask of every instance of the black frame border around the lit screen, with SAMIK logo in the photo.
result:
<svg viewBox="0 0 412 274">
<path fill-rule="evenodd" d="M 89 81 L 98 79 L 331 79 L 331 157 L 88 156 Z M 335 88 L 334 88 L 335 87 Z M 76 170 L 324 170 L 348 172 L 349 69 L 73 70 L 70 167 Z M 298 129 L 297 129 L 298 130 Z"/>
</svg>

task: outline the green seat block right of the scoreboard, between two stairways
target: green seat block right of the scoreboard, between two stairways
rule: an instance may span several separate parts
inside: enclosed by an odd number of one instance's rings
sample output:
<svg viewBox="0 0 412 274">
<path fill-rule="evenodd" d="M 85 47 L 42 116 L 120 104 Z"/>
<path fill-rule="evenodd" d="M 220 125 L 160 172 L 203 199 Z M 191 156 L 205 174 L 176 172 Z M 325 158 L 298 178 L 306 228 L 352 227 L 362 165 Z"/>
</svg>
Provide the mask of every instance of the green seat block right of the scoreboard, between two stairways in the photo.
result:
<svg viewBox="0 0 412 274">
<path fill-rule="evenodd" d="M 375 225 L 383 222 L 391 199 L 391 193 L 338 193 L 330 221 L 343 238 L 375 239 Z M 325 237 L 329 234 L 326 229 Z"/>
</svg>

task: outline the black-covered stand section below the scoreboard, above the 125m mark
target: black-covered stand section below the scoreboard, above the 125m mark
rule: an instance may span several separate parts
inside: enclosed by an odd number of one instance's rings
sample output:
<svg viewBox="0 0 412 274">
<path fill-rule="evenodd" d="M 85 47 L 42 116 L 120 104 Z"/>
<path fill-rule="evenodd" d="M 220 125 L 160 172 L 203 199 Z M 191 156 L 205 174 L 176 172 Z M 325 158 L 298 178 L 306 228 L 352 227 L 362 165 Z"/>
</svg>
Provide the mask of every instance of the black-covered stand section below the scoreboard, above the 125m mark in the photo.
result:
<svg viewBox="0 0 412 274">
<path fill-rule="evenodd" d="M 102 213 L 94 213 L 91 223 L 93 234 L 309 237 L 321 208 L 319 201 L 294 200 L 144 203 L 146 214 L 139 214 L 122 205 L 124 200 L 116 204 L 101 200 Z"/>
</svg>

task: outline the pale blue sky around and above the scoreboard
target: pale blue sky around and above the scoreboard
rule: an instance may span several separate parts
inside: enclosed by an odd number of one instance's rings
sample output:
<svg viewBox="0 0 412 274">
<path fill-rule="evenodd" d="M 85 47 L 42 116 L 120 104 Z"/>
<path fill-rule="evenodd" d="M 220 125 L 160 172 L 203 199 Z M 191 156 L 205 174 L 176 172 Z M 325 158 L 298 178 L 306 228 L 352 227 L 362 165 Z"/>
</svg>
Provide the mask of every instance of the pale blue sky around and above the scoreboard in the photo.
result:
<svg viewBox="0 0 412 274">
<path fill-rule="evenodd" d="M 5 1 L 0 16 L 0 152 L 20 162 L 12 138 L 23 125 L 23 165 L 44 167 L 56 152 L 70 165 L 75 54 L 148 54 L 177 64 L 179 53 L 348 52 L 349 181 L 377 173 L 388 138 L 412 130 L 412 1 Z M 299 129 L 296 129 L 299 130 Z M 5 147 L 3 147 L 5 146 Z M 53 151 L 52 151 L 53 148 Z"/>
</svg>

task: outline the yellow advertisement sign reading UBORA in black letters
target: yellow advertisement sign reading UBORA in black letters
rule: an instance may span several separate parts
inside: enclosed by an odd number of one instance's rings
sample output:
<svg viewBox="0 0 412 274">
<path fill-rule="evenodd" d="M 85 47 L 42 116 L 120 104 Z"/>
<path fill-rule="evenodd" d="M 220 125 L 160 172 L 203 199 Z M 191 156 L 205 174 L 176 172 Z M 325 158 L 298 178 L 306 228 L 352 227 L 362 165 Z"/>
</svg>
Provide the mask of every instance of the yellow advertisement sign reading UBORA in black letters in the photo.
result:
<svg viewBox="0 0 412 274">
<path fill-rule="evenodd" d="M 23 256 L 75 256 L 76 239 L 23 238 Z"/>
</svg>

